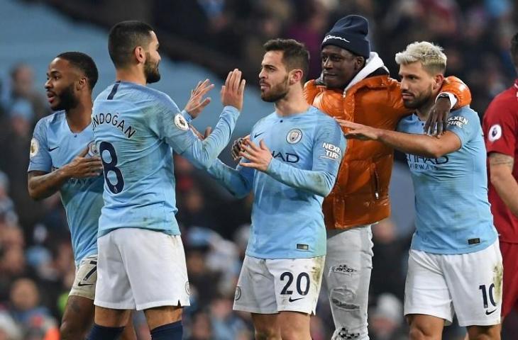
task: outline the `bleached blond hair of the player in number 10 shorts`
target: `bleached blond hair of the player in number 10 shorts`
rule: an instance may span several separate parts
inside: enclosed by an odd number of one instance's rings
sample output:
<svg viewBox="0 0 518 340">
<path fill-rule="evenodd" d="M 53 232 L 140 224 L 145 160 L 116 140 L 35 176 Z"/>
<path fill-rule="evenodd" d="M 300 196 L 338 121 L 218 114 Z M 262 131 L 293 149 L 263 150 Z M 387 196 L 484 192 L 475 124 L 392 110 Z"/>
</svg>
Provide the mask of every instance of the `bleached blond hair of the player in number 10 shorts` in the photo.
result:
<svg viewBox="0 0 518 340">
<path fill-rule="evenodd" d="M 398 65 L 421 62 L 421 65 L 430 74 L 444 74 L 446 71 L 446 59 L 443 47 L 427 41 L 412 42 L 412 44 L 407 46 L 406 50 L 396 54 Z"/>
</svg>

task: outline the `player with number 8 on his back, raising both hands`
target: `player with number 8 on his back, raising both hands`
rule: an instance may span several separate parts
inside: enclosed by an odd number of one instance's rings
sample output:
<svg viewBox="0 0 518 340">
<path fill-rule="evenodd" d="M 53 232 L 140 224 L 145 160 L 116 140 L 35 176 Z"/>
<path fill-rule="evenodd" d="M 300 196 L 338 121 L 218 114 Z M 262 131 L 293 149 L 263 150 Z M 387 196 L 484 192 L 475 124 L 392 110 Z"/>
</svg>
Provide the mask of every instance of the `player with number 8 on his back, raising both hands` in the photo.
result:
<svg viewBox="0 0 518 340">
<path fill-rule="evenodd" d="M 153 28 L 123 21 L 111 28 L 108 49 L 116 81 L 97 96 L 92 128 L 104 169 L 99 259 L 91 340 L 118 339 L 130 310 L 143 310 L 153 340 L 182 339 L 189 281 L 175 214 L 172 152 L 208 169 L 228 144 L 243 105 L 238 69 L 221 89 L 224 110 L 203 142 L 189 128 L 201 110 L 182 112 L 146 86 L 160 79 Z M 204 82 L 206 84 L 206 82 Z M 199 106 L 209 85 L 195 89 Z"/>
</svg>

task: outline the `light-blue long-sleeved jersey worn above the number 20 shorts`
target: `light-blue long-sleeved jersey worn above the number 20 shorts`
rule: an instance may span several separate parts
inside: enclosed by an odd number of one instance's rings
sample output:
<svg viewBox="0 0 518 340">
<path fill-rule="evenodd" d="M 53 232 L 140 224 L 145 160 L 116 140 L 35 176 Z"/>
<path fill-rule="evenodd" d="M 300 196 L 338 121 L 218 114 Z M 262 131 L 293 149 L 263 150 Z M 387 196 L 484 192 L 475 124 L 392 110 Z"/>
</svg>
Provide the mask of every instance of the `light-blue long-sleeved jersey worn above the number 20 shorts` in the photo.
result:
<svg viewBox="0 0 518 340">
<path fill-rule="evenodd" d="M 333 188 L 346 140 L 333 118 L 311 107 L 259 120 L 250 139 L 272 152 L 266 172 L 217 162 L 209 173 L 236 196 L 253 191 L 246 254 L 259 259 L 301 259 L 326 254 L 322 201 Z"/>
</svg>

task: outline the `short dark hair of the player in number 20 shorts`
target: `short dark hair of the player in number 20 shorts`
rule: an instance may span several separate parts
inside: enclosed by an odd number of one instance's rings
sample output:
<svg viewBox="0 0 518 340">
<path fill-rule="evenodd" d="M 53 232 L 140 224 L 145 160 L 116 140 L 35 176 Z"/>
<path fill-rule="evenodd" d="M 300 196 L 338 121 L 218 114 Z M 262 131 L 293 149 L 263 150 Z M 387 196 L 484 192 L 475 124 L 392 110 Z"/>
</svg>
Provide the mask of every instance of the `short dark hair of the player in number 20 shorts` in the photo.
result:
<svg viewBox="0 0 518 340">
<path fill-rule="evenodd" d="M 304 81 L 309 72 L 309 52 L 302 42 L 294 39 L 272 39 L 268 40 L 265 45 L 266 52 L 282 51 L 282 62 L 286 69 L 302 69 L 302 81 Z"/>
</svg>

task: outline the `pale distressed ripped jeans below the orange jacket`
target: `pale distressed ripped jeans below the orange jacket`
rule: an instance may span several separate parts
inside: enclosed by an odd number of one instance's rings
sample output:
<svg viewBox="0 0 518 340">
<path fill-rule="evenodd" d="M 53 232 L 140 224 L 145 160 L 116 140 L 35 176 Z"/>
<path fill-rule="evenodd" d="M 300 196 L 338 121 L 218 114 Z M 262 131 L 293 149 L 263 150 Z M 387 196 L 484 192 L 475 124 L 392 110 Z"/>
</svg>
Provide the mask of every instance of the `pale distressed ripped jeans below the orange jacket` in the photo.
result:
<svg viewBox="0 0 518 340">
<path fill-rule="evenodd" d="M 373 269 L 371 225 L 327 231 L 324 283 L 335 325 L 332 340 L 368 340 L 367 307 Z"/>
</svg>

